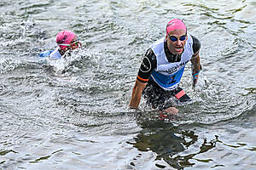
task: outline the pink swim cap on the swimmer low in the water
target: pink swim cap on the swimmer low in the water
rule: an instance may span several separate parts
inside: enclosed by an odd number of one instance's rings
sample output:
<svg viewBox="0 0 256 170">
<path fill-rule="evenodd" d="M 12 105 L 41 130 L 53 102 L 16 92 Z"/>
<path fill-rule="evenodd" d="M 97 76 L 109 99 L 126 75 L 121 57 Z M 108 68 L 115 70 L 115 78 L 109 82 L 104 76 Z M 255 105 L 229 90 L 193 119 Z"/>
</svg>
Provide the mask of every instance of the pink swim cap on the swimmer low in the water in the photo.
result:
<svg viewBox="0 0 256 170">
<path fill-rule="evenodd" d="M 62 43 L 62 44 L 69 44 L 70 42 L 72 42 L 73 40 L 73 37 L 75 37 L 75 33 L 73 33 L 72 31 L 61 31 L 57 34 L 56 36 L 56 42 L 58 44 Z M 64 46 L 64 45 L 59 45 L 59 47 L 61 49 L 65 49 L 67 48 L 67 46 Z"/>
</svg>

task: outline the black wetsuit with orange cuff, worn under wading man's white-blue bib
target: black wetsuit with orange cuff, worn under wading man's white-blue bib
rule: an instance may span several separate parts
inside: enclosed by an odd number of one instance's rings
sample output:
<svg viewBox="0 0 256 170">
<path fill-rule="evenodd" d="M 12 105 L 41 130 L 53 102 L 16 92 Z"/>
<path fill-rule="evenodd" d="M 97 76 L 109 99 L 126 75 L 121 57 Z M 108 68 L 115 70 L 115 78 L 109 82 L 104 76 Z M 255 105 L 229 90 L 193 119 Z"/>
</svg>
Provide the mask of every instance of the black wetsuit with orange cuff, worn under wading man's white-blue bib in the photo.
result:
<svg viewBox="0 0 256 170">
<path fill-rule="evenodd" d="M 201 48 L 201 42 L 196 37 L 191 36 L 193 39 L 193 52 L 198 54 Z M 181 54 L 172 54 L 167 48 L 167 42 L 164 42 L 164 49 L 166 58 L 168 62 L 179 62 L 181 60 Z M 140 66 L 140 69 L 137 74 L 137 80 L 140 82 L 148 82 L 146 88 L 143 89 L 143 97 L 147 99 L 147 103 L 151 104 L 154 108 L 159 108 L 160 110 L 167 109 L 173 105 L 173 102 L 170 100 L 175 96 L 178 101 L 186 102 L 190 98 L 187 94 L 184 93 L 182 88 L 175 88 L 174 90 L 165 90 L 160 88 L 160 86 L 149 79 L 152 71 L 157 67 L 157 59 L 151 48 L 148 48 L 144 58 L 143 63 Z"/>
</svg>

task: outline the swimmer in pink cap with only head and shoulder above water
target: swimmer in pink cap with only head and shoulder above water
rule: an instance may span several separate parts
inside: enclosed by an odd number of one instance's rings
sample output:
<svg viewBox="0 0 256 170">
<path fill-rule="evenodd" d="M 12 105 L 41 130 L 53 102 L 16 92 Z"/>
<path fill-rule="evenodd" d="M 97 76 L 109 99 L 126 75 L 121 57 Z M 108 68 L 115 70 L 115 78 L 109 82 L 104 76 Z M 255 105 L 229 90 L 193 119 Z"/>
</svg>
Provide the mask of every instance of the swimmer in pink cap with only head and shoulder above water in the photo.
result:
<svg viewBox="0 0 256 170">
<path fill-rule="evenodd" d="M 55 50 L 47 50 L 39 54 L 39 57 L 60 59 L 67 51 L 81 47 L 79 37 L 73 31 L 61 31 L 56 36 L 58 47 Z"/>
</svg>

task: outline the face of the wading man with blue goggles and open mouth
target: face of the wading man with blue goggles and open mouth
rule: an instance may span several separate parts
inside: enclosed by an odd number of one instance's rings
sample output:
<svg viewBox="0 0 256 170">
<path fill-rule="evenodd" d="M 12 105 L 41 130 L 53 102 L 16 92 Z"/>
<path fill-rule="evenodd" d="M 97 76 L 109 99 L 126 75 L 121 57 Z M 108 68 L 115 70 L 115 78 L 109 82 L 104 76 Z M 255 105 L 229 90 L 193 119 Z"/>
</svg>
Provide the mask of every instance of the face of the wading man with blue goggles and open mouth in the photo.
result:
<svg viewBox="0 0 256 170">
<path fill-rule="evenodd" d="M 185 30 L 173 30 L 169 31 L 166 35 L 167 47 L 172 54 L 182 54 L 185 43 L 188 39 L 187 32 Z"/>
</svg>

